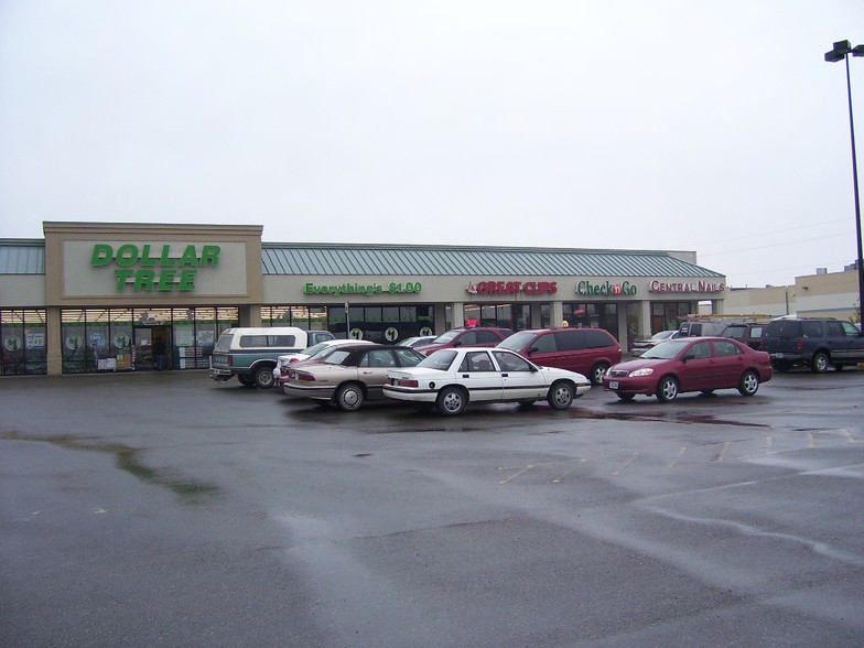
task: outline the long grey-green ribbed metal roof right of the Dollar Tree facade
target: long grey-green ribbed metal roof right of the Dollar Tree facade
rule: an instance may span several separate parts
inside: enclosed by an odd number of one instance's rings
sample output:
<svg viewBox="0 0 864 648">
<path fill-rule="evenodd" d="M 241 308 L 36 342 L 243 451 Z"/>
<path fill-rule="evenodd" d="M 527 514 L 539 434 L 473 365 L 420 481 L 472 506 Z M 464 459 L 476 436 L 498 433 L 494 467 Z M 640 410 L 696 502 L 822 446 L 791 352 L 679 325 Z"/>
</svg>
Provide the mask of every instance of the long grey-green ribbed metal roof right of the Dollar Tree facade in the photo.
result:
<svg viewBox="0 0 864 648">
<path fill-rule="evenodd" d="M 723 277 L 665 251 L 262 244 L 264 274 Z"/>
</svg>

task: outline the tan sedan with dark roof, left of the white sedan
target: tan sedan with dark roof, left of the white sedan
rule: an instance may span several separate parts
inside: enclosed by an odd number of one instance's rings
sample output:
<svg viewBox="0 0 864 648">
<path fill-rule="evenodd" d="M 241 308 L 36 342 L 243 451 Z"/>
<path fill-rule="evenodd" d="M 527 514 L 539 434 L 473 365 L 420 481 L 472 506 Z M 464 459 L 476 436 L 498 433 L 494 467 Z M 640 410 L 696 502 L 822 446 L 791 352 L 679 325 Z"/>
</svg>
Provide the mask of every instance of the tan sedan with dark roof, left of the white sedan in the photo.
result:
<svg viewBox="0 0 864 648">
<path fill-rule="evenodd" d="M 341 410 L 360 409 L 367 400 L 382 400 L 387 371 L 413 367 L 425 356 L 402 346 L 358 343 L 339 346 L 320 361 L 289 365 L 288 396 L 310 398 Z"/>
</svg>

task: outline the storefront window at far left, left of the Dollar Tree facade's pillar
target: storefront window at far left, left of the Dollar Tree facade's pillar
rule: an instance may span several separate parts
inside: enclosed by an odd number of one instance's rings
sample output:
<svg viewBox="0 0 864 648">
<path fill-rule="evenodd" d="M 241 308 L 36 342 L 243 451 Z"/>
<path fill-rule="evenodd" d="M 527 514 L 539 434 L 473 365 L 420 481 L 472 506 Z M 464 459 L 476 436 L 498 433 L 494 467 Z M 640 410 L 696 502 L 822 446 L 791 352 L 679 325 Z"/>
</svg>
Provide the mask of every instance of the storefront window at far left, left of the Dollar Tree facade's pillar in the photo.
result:
<svg viewBox="0 0 864 648">
<path fill-rule="evenodd" d="M 0 311 L 0 374 L 46 374 L 45 311 Z"/>
</svg>

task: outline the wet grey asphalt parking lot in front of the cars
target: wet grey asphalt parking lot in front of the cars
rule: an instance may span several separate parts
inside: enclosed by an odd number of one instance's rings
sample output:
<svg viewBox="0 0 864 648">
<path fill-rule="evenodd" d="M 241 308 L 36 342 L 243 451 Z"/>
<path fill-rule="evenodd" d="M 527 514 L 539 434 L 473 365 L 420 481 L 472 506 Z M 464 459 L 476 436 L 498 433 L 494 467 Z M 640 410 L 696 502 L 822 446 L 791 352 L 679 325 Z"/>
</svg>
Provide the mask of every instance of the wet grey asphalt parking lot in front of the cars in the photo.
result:
<svg viewBox="0 0 864 648">
<path fill-rule="evenodd" d="M 343 413 L 0 380 L 0 644 L 864 642 L 864 371 Z"/>
</svg>

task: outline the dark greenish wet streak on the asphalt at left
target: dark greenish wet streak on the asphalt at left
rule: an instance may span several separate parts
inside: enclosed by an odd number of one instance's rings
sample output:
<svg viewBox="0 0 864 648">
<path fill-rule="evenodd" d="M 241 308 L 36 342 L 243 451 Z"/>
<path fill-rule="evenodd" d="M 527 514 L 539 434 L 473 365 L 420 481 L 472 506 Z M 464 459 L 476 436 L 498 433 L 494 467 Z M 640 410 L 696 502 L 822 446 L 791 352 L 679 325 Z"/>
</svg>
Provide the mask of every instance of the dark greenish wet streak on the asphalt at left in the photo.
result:
<svg viewBox="0 0 864 648">
<path fill-rule="evenodd" d="M 112 454 L 117 467 L 129 473 L 138 479 L 168 488 L 180 497 L 181 501 L 188 505 L 203 504 L 205 500 L 216 496 L 219 492 L 218 486 L 199 482 L 197 479 L 184 479 L 172 471 L 165 468 L 154 468 L 144 464 L 140 458 L 140 449 L 130 447 L 121 443 L 98 443 L 87 438 L 72 436 L 68 434 L 57 436 L 26 436 L 17 432 L 6 432 L 0 434 L 0 439 L 8 441 L 34 441 L 39 443 L 50 443 L 66 450 L 102 452 Z"/>
</svg>

